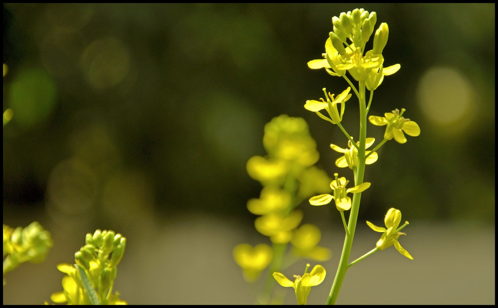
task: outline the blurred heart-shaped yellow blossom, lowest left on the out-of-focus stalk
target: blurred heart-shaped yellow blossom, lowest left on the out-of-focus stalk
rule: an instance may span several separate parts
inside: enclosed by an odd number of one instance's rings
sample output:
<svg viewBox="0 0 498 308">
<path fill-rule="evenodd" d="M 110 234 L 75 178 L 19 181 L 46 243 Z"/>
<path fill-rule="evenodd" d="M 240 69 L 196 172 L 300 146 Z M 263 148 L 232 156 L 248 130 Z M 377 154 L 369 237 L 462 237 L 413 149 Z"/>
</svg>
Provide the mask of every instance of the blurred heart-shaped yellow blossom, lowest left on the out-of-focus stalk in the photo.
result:
<svg viewBox="0 0 498 308">
<path fill-rule="evenodd" d="M 234 247 L 235 262 L 242 268 L 244 278 L 248 282 L 255 281 L 273 258 L 273 250 L 266 244 L 252 247 L 249 244 L 239 244 Z"/>
</svg>

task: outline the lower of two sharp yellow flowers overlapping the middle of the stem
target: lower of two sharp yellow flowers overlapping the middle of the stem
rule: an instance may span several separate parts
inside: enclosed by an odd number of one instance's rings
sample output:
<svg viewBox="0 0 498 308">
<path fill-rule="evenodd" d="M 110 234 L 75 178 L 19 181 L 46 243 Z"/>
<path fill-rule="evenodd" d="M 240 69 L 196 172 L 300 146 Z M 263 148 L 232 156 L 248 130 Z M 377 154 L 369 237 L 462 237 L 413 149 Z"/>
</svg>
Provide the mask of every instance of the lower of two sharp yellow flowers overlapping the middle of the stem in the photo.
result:
<svg viewBox="0 0 498 308">
<path fill-rule="evenodd" d="M 311 197 L 309 202 L 311 205 L 324 205 L 330 203 L 332 199 L 336 201 L 336 207 L 339 211 L 347 211 L 351 208 L 351 198 L 348 197 L 348 193 L 358 193 L 365 191 L 370 187 L 369 182 L 364 182 L 358 186 L 346 189 L 346 185 L 348 185 L 349 180 L 345 177 L 338 178 L 338 173 L 334 173 L 336 177 L 335 180 L 330 183 L 330 188 L 334 190 L 334 195 L 330 195 L 328 193 L 321 194 L 318 196 Z"/>
</svg>

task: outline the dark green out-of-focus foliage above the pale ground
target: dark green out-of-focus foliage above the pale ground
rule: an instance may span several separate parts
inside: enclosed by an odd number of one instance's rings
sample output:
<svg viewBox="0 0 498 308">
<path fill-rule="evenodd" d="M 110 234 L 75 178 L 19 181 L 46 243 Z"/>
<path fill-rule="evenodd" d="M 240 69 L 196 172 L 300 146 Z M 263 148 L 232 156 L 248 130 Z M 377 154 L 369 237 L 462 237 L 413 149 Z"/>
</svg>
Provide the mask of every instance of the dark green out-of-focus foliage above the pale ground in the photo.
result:
<svg viewBox="0 0 498 308">
<path fill-rule="evenodd" d="M 388 99 L 374 99 L 371 114 L 402 102 L 424 134 L 379 151 L 365 180 L 389 193 L 367 190 L 361 214 L 402 203 L 412 220 L 494 223 L 495 4 L 364 8 L 389 23 L 382 53 L 402 63 L 376 90 Z M 139 225 L 191 211 L 249 221 L 245 204 L 260 187 L 246 162 L 262 153 L 261 129 L 280 114 L 305 118 L 318 165 L 339 171 L 329 145 L 341 132 L 323 134 L 329 126 L 302 106 L 329 80 L 306 63 L 320 57 L 330 16 L 349 9 L 4 4 L 3 110 L 15 114 L 3 133 L 4 216 L 40 204 L 68 225 Z M 348 116 L 342 124 L 357 130 Z M 381 140 L 382 128 L 369 130 Z"/>
</svg>

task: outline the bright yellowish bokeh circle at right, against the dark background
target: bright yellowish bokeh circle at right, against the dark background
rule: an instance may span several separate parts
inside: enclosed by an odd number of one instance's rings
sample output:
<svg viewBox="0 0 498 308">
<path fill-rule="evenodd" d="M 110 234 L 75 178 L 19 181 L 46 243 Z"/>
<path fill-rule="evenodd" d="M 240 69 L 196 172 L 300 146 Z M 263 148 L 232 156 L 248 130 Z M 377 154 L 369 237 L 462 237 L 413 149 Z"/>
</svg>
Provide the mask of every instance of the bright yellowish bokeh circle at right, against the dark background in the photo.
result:
<svg viewBox="0 0 498 308">
<path fill-rule="evenodd" d="M 475 93 L 469 80 L 449 67 L 433 67 L 420 79 L 417 89 L 421 110 L 440 127 L 459 131 L 470 124 L 475 110 Z M 458 122 L 458 126 L 454 125 Z"/>
</svg>

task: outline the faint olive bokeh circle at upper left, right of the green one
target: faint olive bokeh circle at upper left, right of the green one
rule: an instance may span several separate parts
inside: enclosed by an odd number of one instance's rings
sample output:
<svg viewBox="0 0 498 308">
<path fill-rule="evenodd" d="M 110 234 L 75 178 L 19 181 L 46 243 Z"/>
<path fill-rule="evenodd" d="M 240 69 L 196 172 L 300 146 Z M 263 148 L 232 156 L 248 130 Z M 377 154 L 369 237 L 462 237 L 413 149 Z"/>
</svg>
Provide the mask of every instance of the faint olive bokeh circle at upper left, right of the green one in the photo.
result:
<svg viewBox="0 0 498 308">
<path fill-rule="evenodd" d="M 92 42 L 83 52 L 81 63 L 88 82 L 95 89 L 116 86 L 129 71 L 128 48 L 114 37 Z"/>
</svg>

